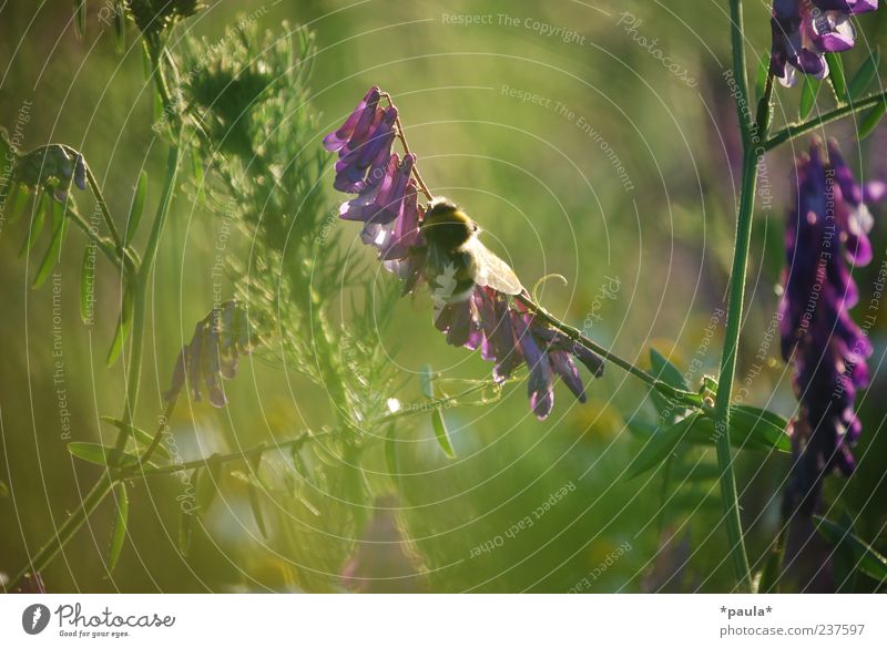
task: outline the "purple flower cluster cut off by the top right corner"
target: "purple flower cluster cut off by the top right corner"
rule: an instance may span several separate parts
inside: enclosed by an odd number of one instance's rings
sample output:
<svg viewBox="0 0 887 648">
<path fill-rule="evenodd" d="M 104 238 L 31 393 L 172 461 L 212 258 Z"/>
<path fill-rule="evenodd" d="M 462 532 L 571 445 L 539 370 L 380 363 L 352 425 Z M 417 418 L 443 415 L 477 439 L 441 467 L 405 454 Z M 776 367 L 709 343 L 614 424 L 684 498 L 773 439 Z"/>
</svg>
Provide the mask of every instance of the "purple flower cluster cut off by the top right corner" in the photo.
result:
<svg viewBox="0 0 887 648">
<path fill-rule="evenodd" d="M 825 54 L 854 47 L 850 16 L 877 8 L 878 0 L 773 0 L 771 72 L 789 88 L 795 70 L 824 79 Z"/>
</svg>

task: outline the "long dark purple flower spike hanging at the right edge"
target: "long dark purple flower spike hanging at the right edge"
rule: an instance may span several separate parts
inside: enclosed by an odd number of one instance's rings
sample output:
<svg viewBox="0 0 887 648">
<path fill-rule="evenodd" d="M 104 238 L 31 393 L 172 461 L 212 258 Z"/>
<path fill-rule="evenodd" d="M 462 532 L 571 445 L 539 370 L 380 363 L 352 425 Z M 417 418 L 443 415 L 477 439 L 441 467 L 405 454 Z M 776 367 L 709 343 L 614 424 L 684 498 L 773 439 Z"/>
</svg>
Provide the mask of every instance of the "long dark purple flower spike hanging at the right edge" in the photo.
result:
<svg viewBox="0 0 887 648">
<path fill-rule="evenodd" d="M 858 301 L 850 265 L 871 260 L 866 203 L 884 197 L 887 185 L 860 186 L 834 142 L 815 140 L 797 162 L 797 207 L 786 229 L 787 268 L 779 304 L 782 353 L 795 366 L 801 414 L 794 422 L 795 466 L 787 491 L 791 511 L 812 513 L 823 477 L 849 475 L 850 446 L 860 432 L 856 391 L 868 384 L 871 344 L 850 318 Z"/>
</svg>

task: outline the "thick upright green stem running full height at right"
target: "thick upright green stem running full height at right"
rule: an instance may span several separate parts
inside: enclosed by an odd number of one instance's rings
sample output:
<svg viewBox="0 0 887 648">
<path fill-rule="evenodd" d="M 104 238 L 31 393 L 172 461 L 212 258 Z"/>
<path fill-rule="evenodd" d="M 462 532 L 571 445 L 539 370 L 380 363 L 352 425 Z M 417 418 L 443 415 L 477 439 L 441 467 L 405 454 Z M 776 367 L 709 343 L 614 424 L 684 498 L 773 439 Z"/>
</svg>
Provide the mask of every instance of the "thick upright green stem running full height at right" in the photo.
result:
<svg viewBox="0 0 887 648">
<path fill-rule="evenodd" d="M 740 502 L 736 492 L 736 476 L 733 471 L 733 454 L 730 446 L 730 399 L 733 379 L 736 373 L 736 352 L 740 346 L 743 300 L 745 298 L 745 274 L 748 268 L 748 246 L 752 238 L 752 216 L 757 185 L 757 154 L 753 134 L 755 126 L 750 121 L 747 110 L 747 81 L 745 72 L 745 42 L 742 23 L 742 0 L 730 2 L 733 42 L 733 74 L 738 86 L 736 110 L 743 131 L 742 194 L 740 212 L 736 216 L 736 244 L 733 250 L 733 268 L 730 276 L 730 297 L 727 301 L 724 350 L 721 356 L 721 374 L 717 380 L 717 394 L 714 405 L 715 445 L 717 466 L 721 471 L 721 500 L 724 505 L 724 522 L 730 543 L 730 556 L 736 576 L 737 587 L 752 590 L 748 556 L 743 539 Z"/>
</svg>

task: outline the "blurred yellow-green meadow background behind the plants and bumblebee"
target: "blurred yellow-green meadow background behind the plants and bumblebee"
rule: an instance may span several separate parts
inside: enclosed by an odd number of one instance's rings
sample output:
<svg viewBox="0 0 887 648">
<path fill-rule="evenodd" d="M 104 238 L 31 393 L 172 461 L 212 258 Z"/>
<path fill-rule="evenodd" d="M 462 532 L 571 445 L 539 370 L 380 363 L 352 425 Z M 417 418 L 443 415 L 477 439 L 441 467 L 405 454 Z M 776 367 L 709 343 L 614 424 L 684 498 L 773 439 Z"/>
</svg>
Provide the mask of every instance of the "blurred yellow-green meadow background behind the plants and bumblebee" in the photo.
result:
<svg viewBox="0 0 887 648">
<path fill-rule="evenodd" d="M 89 2 L 84 40 L 74 34 L 71 2 L 7 2 L 0 8 L 0 116 L 11 130 L 23 102 L 31 102 L 22 147 L 64 142 L 83 151 L 112 213 L 121 217 L 140 169 L 146 168 L 151 214 L 166 147 L 151 131 L 141 52 L 137 47 L 123 56 L 114 52 L 112 30 L 100 20 L 102 8 Z M 216 2 L 179 25 L 173 51 L 184 30 L 218 40 L 238 13 L 255 16 L 273 31 L 288 20 L 316 33 L 312 89 L 323 113 L 318 145 L 367 88 L 389 91 L 432 191 L 465 205 L 485 228 L 488 245 L 510 260 L 526 285 L 550 272 L 567 278 L 567 286 L 552 280 L 540 290 L 552 312 L 580 328 L 588 322 L 592 338 L 641 364 L 649 362 L 651 347 L 682 369 L 693 363 L 699 368 L 691 377 L 694 388 L 704 373 L 715 373 L 740 155 L 733 103 L 721 78 L 730 65 L 727 2 Z M 746 13 L 754 64 L 769 49 L 768 9 L 748 2 Z M 465 17 L 479 18 L 459 24 Z M 845 56 L 848 69 L 887 38 L 884 11 L 860 23 L 859 45 Z M 131 45 L 135 30 L 130 28 Z M 651 53 L 655 49 L 671 58 L 677 73 Z M 795 117 L 798 95 L 799 90 L 777 91 L 777 124 Z M 865 165 L 871 177 L 887 177 L 887 131 L 881 127 L 858 147 L 852 132 L 849 124 L 827 130 L 842 140 L 856 169 Z M 746 403 L 786 416 L 795 405 L 789 373 L 777 337 L 768 340 L 765 331 L 777 305 L 792 158 L 784 148 L 766 160 L 762 187 L 769 195 L 758 200 L 756 213 L 737 374 L 737 389 L 754 374 L 743 394 Z M 333 208 L 341 196 L 332 191 L 332 175 L 327 178 Z M 89 214 L 86 206 L 81 210 Z M 875 216 L 876 260 L 856 274 L 863 304 L 887 243 L 883 212 Z M 371 258 L 359 246 L 354 224 L 334 227 L 345 230 L 343 245 L 354 246 L 351 254 Z M 137 416 L 145 429 L 153 429 L 162 411 L 160 393 L 179 348 L 212 307 L 218 229 L 218 220 L 186 192 L 177 194 L 151 297 Z M 73 441 L 113 443 L 113 429 L 100 424 L 99 416 L 116 415 L 123 395 L 121 366 L 104 368 L 120 300 L 116 275 L 101 266 L 96 323 L 84 327 L 78 317 L 82 253 L 68 246 L 58 268 L 64 379 L 54 383 L 60 358 L 53 357 L 53 289 L 51 282 L 39 291 L 29 288 L 39 258 L 19 257 L 26 232 L 21 222 L 4 224 L 0 232 L 6 348 L 0 480 L 9 487 L 0 497 L 0 572 L 7 574 L 52 535 L 99 474 L 67 451 L 58 389 L 67 390 Z M 247 246 L 239 239 L 230 249 Z M 376 279 L 395 280 L 384 272 Z M 231 286 L 224 290 L 230 294 Z M 873 397 L 887 389 L 880 370 L 884 310 L 870 330 L 873 385 L 859 399 L 865 430 L 856 451 L 859 470 L 849 481 L 830 479 L 827 487 L 834 511 L 855 516 L 856 532 L 881 551 L 887 546 L 887 441 L 884 404 Z M 340 312 L 348 317 L 344 302 Z M 425 291 L 398 304 L 379 343 L 397 347 L 394 361 L 404 387 L 384 395 L 401 402 L 420 400 L 418 373 L 426 364 L 452 380 L 486 378 L 490 370 L 478 354 L 447 347 L 431 326 Z M 761 352 L 763 363 L 755 358 Z M 279 364 L 246 363 L 226 391 L 230 405 L 223 410 L 205 402 L 179 407 L 172 425 L 185 460 L 288 439 L 330 422 L 323 391 Z M 455 461 L 439 450 L 430 421 L 417 418 L 398 431 L 406 442 L 400 454 L 405 474 L 397 484 L 386 474 L 380 452 L 367 457 L 371 491 L 397 491 L 398 524 L 417 564 L 427 569 L 428 589 L 732 587 L 712 479 L 714 450 L 687 457 L 687 471 L 666 491 L 661 471 L 629 481 L 623 473 L 642 442 L 625 420 L 654 419 L 646 392 L 608 367 L 604 378 L 589 385 L 589 403 L 580 405 L 559 384 L 554 412 L 544 422 L 529 412 L 523 384 L 509 385 L 492 404 L 448 410 Z M 778 524 L 788 460 L 742 452 L 737 463 L 748 549 L 757 562 Z M 283 479 L 285 459 L 272 459 L 269 465 Z M 568 493 L 531 526 L 506 535 L 564 486 Z M 349 506 L 339 502 L 335 481 L 283 503 L 268 493 L 263 506 L 269 533 L 263 537 L 245 485 L 236 475 L 224 476 L 221 496 L 195 532 L 187 557 L 176 543 L 175 497 L 181 492 L 175 477 L 134 484 L 129 536 L 113 575 L 104 568 L 112 517 L 105 503 L 45 570 L 48 588 L 341 589 L 339 573 L 361 529 L 355 528 Z M 472 555 L 485 543 L 498 545 L 496 538 L 501 546 Z"/>
</svg>

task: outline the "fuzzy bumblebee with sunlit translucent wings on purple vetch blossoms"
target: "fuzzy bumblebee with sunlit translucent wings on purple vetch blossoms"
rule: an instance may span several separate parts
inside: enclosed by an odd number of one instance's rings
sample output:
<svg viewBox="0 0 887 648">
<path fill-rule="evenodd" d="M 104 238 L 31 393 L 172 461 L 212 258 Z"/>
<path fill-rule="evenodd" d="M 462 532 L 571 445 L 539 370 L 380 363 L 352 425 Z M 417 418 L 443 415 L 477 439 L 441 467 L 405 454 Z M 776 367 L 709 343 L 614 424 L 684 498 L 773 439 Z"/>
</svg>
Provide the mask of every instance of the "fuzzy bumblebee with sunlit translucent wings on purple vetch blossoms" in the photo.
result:
<svg viewBox="0 0 887 648">
<path fill-rule="evenodd" d="M 520 295 L 523 286 L 511 267 L 478 238 L 480 227 L 456 204 L 435 198 L 428 204 L 421 235 L 428 253 L 426 277 L 445 301 L 467 299 L 475 286 Z"/>
</svg>

